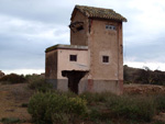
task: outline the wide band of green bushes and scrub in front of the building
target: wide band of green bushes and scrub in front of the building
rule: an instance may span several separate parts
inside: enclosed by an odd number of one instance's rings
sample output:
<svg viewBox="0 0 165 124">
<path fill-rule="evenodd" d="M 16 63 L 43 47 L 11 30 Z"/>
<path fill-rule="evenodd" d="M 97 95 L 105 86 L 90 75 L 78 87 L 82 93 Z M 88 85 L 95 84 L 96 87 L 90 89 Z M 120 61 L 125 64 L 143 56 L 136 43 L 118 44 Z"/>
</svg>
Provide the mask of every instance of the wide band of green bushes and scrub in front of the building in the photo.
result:
<svg viewBox="0 0 165 124">
<path fill-rule="evenodd" d="M 154 116 L 161 112 L 165 112 L 165 94 L 86 92 L 73 95 L 52 91 L 36 92 L 29 103 L 29 113 L 37 124 L 143 124 L 153 123 Z"/>
</svg>

